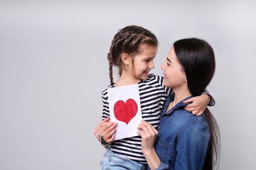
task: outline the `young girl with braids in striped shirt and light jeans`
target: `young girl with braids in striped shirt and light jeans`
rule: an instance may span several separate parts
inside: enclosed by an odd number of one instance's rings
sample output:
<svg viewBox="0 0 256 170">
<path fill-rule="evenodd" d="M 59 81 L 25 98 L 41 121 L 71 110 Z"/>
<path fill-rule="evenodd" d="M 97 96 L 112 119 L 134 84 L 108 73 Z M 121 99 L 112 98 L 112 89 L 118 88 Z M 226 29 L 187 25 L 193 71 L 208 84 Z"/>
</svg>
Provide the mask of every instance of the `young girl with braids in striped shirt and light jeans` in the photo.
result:
<svg viewBox="0 0 256 170">
<path fill-rule="evenodd" d="M 158 52 L 158 39 L 143 27 L 131 25 L 120 29 L 112 41 L 108 61 L 110 66 L 110 86 L 125 86 L 139 84 L 142 119 L 157 128 L 160 121 L 160 110 L 171 88 L 163 86 L 163 77 L 150 74 L 154 69 L 154 58 Z M 119 70 L 119 79 L 114 83 L 112 67 Z M 203 111 L 209 103 L 207 94 L 188 100 L 199 103 L 196 105 Z M 101 161 L 102 169 L 144 169 L 144 158 L 140 136 L 114 140 L 116 123 L 108 122 L 110 117 L 108 105 L 108 89 L 102 92 L 103 112 L 102 122 L 95 127 L 95 136 L 108 148 Z M 192 104 L 190 104 L 192 105 Z M 214 105 L 212 99 L 210 105 Z M 193 110 L 192 110 L 193 111 Z M 110 159 L 111 158 L 111 159 Z"/>
</svg>

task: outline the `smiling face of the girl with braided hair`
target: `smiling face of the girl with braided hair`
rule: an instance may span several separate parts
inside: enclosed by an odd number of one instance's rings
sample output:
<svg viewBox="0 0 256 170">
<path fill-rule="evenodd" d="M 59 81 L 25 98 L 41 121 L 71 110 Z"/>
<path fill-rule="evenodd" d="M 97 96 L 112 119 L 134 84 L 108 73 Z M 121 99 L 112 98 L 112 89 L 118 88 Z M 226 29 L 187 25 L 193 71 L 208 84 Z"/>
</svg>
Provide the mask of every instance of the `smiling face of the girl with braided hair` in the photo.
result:
<svg viewBox="0 0 256 170">
<path fill-rule="evenodd" d="M 151 69 L 154 69 L 154 58 L 156 58 L 156 53 L 158 48 L 154 46 L 148 46 L 142 44 L 140 47 L 140 54 L 133 59 L 133 76 L 139 80 L 146 80 L 148 78 L 148 73 Z"/>
</svg>

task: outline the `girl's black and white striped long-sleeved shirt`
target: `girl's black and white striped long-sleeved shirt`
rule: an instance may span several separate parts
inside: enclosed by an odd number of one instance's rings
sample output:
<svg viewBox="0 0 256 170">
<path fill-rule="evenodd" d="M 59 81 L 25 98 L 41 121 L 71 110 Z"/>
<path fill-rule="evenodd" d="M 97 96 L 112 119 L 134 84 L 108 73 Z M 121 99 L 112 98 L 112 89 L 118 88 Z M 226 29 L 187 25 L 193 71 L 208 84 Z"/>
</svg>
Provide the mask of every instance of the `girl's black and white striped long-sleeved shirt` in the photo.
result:
<svg viewBox="0 0 256 170">
<path fill-rule="evenodd" d="M 113 85 L 108 88 L 114 88 Z M 155 128 L 160 122 L 160 110 L 165 102 L 165 99 L 171 92 L 171 88 L 163 86 L 163 77 L 153 74 L 148 75 L 146 80 L 139 82 L 140 107 L 142 119 L 152 124 Z M 108 89 L 102 92 L 103 112 L 102 118 L 110 117 L 108 104 Z M 141 137 L 129 137 L 114 141 L 110 144 L 113 152 L 125 156 L 133 161 L 146 163 L 146 159 L 141 151 Z"/>
</svg>

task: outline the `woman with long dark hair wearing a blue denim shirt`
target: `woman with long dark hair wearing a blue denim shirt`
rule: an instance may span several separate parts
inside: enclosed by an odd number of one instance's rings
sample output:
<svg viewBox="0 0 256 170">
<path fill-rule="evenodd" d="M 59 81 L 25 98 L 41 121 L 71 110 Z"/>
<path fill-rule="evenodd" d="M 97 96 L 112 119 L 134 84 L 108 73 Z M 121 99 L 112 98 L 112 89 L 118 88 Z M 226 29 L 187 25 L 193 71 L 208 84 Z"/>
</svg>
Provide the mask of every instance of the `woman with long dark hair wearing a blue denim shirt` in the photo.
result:
<svg viewBox="0 0 256 170">
<path fill-rule="evenodd" d="M 200 95 L 215 73 L 213 48 L 201 39 L 181 39 L 162 63 L 163 84 L 173 89 L 161 110 L 158 130 L 139 125 L 142 152 L 150 169 L 213 169 L 219 156 L 219 128 L 205 109 L 194 116 L 182 101 Z M 155 143 L 155 144 L 154 144 Z"/>
</svg>

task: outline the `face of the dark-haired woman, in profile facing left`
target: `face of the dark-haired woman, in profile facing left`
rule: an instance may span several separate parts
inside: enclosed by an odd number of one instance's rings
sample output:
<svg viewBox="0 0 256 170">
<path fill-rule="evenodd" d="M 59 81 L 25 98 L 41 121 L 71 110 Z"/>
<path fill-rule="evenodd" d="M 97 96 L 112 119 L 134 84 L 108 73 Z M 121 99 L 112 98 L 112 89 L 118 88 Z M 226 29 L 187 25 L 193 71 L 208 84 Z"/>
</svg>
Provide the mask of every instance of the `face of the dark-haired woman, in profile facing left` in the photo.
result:
<svg viewBox="0 0 256 170">
<path fill-rule="evenodd" d="M 186 83 L 186 74 L 182 65 L 175 54 L 172 47 L 167 55 L 167 59 L 161 64 L 163 69 L 163 85 L 173 88 L 179 88 Z"/>
</svg>

